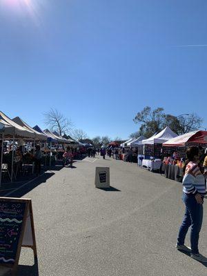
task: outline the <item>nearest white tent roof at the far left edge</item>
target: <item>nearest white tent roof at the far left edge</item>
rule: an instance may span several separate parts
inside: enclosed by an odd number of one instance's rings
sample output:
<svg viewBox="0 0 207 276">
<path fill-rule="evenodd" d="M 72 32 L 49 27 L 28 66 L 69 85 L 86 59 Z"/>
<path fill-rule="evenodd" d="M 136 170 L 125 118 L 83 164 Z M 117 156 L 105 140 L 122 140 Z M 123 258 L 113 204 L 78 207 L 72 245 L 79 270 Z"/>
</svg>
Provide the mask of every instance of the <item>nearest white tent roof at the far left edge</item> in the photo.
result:
<svg viewBox="0 0 207 276">
<path fill-rule="evenodd" d="M 0 123 L 4 126 L 2 128 L 3 134 L 7 137 L 21 137 L 21 138 L 28 138 L 34 139 L 34 132 L 28 130 L 23 126 L 19 126 L 19 124 L 12 121 L 9 117 L 7 117 L 3 112 L 0 111 Z"/>
</svg>

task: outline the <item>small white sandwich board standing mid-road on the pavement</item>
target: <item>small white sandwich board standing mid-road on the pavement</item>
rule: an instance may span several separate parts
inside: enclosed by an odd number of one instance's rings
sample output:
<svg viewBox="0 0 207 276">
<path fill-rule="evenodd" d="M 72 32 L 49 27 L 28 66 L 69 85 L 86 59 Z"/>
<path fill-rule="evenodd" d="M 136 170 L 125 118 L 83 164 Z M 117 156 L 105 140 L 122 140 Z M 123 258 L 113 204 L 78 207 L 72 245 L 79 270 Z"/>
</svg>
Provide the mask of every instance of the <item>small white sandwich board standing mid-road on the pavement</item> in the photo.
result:
<svg viewBox="0 0 207 276">
<path fill-rule="evenodd" d="M 95 186 L 96 188 L 109 188 L 110 175 L 108 167 L 96 167 Z"/>
</svg>

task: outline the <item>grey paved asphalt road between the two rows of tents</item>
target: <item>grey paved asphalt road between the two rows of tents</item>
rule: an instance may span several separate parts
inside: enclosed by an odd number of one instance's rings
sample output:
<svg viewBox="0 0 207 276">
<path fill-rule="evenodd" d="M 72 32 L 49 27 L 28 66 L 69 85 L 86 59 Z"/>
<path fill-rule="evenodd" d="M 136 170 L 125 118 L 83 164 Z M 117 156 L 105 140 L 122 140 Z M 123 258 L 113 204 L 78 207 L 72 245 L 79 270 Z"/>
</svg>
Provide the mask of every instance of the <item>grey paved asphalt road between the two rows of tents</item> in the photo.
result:
<svg viewBox="0 0 207 276">
<path fill-rule="evenodd" d="M 48 171 L 10 195 L 31 198 L 34 210 L 39 264 L 23 248 L 19 275 L 207 275 L 204 264 L 175 249 L 181 184 L 109 158 L 86 157 L 74 166 Z M 95 188 L 96 166 L 110 167 L 113 189 Z M 206 223 L 205 215 L 204 255 Z"/>
</svg>

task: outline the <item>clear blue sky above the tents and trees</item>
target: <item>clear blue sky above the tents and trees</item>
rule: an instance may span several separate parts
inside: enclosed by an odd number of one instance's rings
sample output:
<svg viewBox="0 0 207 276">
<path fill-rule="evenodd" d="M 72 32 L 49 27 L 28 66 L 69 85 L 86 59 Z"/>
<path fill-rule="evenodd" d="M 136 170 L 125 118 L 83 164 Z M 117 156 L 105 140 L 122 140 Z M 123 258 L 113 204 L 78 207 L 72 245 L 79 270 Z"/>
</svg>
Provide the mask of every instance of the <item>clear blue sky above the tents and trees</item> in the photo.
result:
<svg viewBox="0 0 207 276">
<path fill-rule="evenodd" d="M 0 110 L 57 108 L 89 137 L 126 139 L 145 106 L 207 128 L 206 0 L 0 0 Z"/>
</svg>

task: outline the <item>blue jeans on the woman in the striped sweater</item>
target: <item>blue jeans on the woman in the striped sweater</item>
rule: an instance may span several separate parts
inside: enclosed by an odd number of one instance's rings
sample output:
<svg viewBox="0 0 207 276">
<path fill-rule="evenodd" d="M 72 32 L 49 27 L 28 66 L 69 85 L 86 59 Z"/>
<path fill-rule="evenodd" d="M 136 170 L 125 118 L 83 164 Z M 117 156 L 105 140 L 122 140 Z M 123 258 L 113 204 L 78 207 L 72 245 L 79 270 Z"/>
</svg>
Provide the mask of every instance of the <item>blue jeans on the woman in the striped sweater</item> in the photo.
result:
<svg viewBox="0 0 207 276">
<path fill-rule="evenodd" d="M 186 213 L 184 215 L 183 222 L 179 228 L 177 244 L 184 245 L 188 228 L 191 226 L 191 250 L 193 254 L 198 254 L 199 232 L 201 230 L 204 214 L 203 205 L 197 203 L 195 195 L 186 195 L 184 193 L 182 199 L 184 201 L 184 204 L 186 204 Z"/>
</svg>

